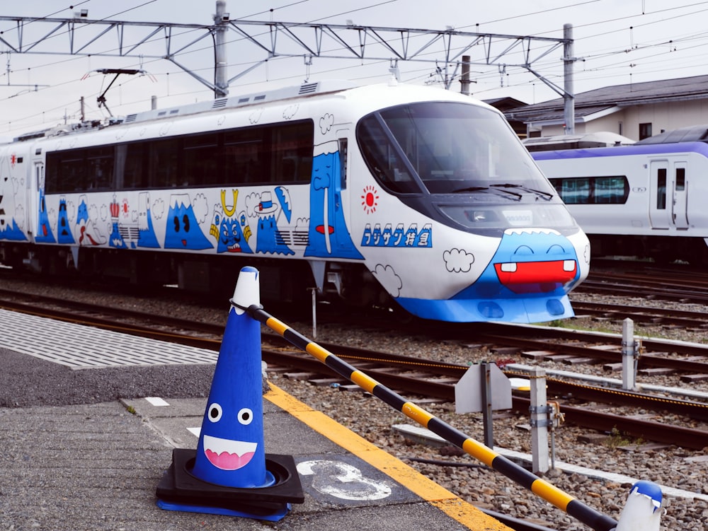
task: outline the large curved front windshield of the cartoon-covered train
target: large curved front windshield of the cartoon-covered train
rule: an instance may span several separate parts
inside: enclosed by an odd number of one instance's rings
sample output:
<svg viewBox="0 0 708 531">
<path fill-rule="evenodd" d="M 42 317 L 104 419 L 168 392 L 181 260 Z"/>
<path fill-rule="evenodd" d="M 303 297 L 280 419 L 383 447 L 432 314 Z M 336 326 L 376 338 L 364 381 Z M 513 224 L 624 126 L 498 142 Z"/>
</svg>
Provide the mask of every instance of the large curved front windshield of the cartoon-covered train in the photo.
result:
<svg viewBox="0 0 708 531">
<path fill-rule="evenodd" d="M 399 105 L 362 118 L 357 135 L 384 187 L 401 199 L 428 192 L 448 223 L 491 229 L 524 218 L 535 226 L 575 226 L 555 189 L 493 110 L 454 102 Z M 486 208 L 470 211 L 471 203 Z M 526 214 L 530 204 L 536 219 Z"/>
</svg>

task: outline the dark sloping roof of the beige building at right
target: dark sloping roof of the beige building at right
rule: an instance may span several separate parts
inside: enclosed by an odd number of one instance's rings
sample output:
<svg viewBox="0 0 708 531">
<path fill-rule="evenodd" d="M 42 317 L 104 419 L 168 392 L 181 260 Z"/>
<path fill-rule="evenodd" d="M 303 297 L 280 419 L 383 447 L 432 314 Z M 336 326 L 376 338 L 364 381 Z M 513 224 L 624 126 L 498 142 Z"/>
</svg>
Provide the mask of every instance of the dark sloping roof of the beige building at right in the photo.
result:
<svg viewBox="0 0 708 531">
<path fill-rule="evenodd" d="M 649 103 L 708 98 L 708 76 L 646 81 L 596 88 L 575 95 L 576 117 L 587 117 L 612 107 L 648 105 Z M 505 113 L 508 119 L 532 122 L 534 119 L 553 120 L 564 116 L 564 99 L 518 107 Z"/>
</svg>

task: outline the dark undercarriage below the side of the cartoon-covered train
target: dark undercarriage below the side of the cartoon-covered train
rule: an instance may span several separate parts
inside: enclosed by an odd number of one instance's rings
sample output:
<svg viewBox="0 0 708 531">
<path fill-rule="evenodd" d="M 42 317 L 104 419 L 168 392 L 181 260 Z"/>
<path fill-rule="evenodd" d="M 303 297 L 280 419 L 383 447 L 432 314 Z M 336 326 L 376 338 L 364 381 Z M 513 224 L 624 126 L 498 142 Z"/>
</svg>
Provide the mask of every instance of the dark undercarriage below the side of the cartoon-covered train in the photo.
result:
<svg viewBox="0 0 708 531">
<path fill-rule="evenodd" d="M 175 286 L 191 293 L 230 297 L 241 267 L 261 273 L 261 299 L 283 303 L 344 301 L 356 307 L 396 306 L 362 265 L 244 255 L 224 257 L 154 251 L 0 243 L 0 262 L 42 276 L 80 277 L 98 283 Z"/>
</svg>

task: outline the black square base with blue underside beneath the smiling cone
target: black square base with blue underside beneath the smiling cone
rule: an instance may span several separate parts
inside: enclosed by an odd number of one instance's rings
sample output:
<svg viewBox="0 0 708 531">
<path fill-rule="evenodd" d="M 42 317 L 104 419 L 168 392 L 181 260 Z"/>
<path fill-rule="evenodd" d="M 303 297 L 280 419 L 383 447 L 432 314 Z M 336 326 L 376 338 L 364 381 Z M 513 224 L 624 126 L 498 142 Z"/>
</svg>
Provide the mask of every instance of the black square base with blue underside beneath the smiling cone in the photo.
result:
<svg viewBox="0 0 708 531">
<path fill-rule="evenodd" d="M 275 483 L 253 489 L 222 486 L 194 476 L 196 450 L 175 448 L 172 464 L 157 485 L 157 505 L 166 510 L 280 520 L 290 503 L 303 503 L 302 484 L 292 455 L 265 454 Z"/>
</svg>

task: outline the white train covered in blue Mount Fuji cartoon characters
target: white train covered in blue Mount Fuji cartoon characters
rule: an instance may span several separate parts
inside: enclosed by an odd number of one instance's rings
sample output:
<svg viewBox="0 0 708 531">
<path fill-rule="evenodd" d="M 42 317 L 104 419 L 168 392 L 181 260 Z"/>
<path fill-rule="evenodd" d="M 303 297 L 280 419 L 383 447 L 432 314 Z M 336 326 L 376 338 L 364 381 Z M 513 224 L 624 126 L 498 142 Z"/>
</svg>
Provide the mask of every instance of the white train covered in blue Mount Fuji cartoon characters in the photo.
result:
<svg viewBox="0 0 708 531">
<path fill-rule="evenodd" d="M 249 264 L 264 299 L 316 287 L 454 322 L 569 317 L 590 261 L 500 112 L 394 82 L 21 136 L 0 146 L 0 253 L 191 290 L 227 291 Z"/>
</svg>

